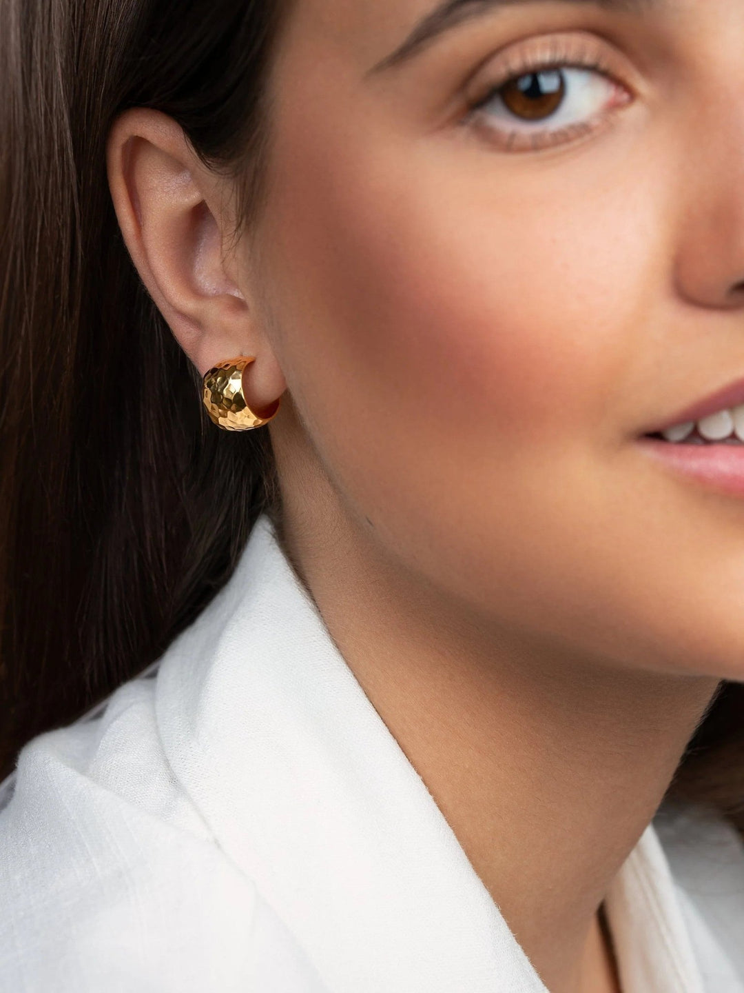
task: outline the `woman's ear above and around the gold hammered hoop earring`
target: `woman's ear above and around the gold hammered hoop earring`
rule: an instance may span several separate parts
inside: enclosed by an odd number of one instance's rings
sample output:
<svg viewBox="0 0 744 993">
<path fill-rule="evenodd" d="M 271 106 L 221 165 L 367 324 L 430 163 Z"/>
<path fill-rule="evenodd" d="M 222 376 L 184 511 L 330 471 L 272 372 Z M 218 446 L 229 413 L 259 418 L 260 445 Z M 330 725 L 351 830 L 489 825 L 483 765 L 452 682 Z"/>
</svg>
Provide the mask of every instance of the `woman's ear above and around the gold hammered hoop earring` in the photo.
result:
<svg viewBox="0 0 744 993">
<path fill-rule="evenodd" d="M 233 220 L 228 180 L 201 163 L 172 117 L 146 107 L 116 118 L 106 165 L 132 261 L 199 374 L 255 355 L 245 370 L 248 404 L 257 413 L 273 405 L 287 383 L 247 299 L 239 253 L 225 251 Z"/>
</svg>

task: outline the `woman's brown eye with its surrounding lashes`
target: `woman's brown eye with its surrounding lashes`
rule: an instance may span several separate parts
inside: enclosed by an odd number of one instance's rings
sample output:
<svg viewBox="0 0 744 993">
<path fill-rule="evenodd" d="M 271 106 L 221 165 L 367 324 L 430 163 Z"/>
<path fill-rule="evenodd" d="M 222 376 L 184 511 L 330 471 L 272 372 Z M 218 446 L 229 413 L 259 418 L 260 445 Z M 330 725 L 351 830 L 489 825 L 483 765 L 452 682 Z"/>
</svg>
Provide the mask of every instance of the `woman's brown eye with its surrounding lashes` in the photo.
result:
<svg viewBox="0 0 744 993">
<path fill-rule="evenodd" d="M 536 151 L 596 130 L 629 98 L 600 59 L 554 44 L 497 73 L 485 97 L 470 104 L 465 123 L 505 150 Z"/>
</svg>

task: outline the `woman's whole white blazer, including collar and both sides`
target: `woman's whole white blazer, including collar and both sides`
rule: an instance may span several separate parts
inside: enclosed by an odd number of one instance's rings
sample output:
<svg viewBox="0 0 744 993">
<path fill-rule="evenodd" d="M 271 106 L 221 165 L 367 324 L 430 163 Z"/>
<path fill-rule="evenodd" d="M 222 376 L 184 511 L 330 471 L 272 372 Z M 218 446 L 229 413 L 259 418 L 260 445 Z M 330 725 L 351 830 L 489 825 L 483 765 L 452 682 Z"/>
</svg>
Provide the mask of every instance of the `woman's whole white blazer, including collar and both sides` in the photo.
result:
<svg viewBox="0 0 744 993">
<path fill-rule="evenodd" d="M 606 907 L 624 993 L 744 993 L 744 844 L 711 811 L 663 804 Z M 23 749 L 0 991 L 546 987 L 262 515 L 159 663 Z"/>
</svg>

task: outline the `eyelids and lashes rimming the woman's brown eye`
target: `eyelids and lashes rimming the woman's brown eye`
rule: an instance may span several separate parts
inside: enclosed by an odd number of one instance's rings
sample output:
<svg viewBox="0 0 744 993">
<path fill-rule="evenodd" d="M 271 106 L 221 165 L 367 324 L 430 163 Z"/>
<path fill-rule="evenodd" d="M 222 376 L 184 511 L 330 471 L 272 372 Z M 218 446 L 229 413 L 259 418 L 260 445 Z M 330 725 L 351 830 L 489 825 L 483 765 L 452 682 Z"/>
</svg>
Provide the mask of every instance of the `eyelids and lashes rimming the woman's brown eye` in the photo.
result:
<svg viewBox="0 0 744 993">
<path fill-rule="evenodd" d="M 490 103 L 495 96 L 498 96 L 499 90 L 501 90 L 508 82 L 513 82 L 524 75 L 536 74 L 539 72 L 556 71 L 561 69 L 595 71 L 598 74 L 603 75 L 605 79 L 612 83 L 618 90 L 625 88 L 626 93 L 628 92 L 627 88 L 622 87 L 622 84 L 616 79 L 614 73 L 610 70 L 610 67 L 600 56 L 596 54 L 596 52 L 592 52 L 591 48 L 585 42 L 581 43 L 578 47 L 576 47 L 574 43 L 573 47 L 571 47 L 569 43 L 561 39 L 551 39 L 549 46 L 549 50 L 545 53 L 519 53 L 513 63 L 507 60 L 507 64 L 503 71 L 498 73 L 496 82 L 491 83 L 485 95 L 480 97 L 475 102 L 470 102 L 468 112 L 463 120 L 463 124 L 473 127 L 477 126 L 480 120 L 484 116 L 487 116 L 481 112 L 482 108 L 486 104 Z M 495 127 L 493 124 L 483 124 L 482 129 L 488 133 L 490 140 L 493 140 L 493 135 L 495 133 L 499 146 L 504 147 L 505 150 L 514 150 L 514 142 L 519 138 L 523 138 L 527 139 L 529 143 L 527 149 L 528 151 L 537 151 L 540 148 L 564 144 L 565 142 L 570 141 L 571 138 L 589 134 L 597 130 L 597 128 L 604 123 L 606 117 L 607 112 L 600 112 L 599 115 L 596 115 L 589 122 L 570 124 L 554 129 L 553 131 L 544 127 L 542 131 L 533 131 L 531 133 L 518 130 L 512 130 L 505 133 L 502 129 Z M 560 136 L 562 136 L 562 138 Z M 519 150 L 519 148 L 517 150 Z"/>
</svg>

